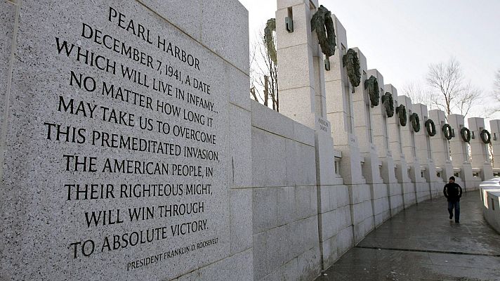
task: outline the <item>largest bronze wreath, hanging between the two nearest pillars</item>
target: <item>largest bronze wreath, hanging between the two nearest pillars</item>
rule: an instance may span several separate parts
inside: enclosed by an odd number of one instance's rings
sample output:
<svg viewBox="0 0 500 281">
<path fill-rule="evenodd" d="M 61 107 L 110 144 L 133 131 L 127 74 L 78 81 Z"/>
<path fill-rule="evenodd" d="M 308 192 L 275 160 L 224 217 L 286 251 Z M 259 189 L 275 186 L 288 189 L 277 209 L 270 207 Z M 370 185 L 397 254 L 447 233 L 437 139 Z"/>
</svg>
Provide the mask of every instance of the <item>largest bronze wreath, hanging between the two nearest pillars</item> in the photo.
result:
<svg viewBox="0 0 500 281">
<path fill-rule="evenodd" d="M 316 13 L 311 18 L 311 32 L 315 30 L 317 39 L 320 41 L 321 51 L 327 57 L 334 55 L 336 46 L 334 20 L 331 18 L 331 12 L 323 5 L 317 8 Z"/>
</svg>

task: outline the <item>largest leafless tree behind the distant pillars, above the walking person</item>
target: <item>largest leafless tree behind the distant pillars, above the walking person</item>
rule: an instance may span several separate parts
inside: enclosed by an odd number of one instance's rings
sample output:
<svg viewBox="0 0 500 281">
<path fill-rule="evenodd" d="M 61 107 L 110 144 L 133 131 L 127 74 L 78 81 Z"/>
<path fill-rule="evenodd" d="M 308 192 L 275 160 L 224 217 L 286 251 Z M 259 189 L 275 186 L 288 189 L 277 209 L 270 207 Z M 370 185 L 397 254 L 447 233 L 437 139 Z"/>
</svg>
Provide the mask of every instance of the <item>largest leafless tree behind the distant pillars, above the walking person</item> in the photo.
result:
<svg viewBox="0 0 500 281">
<path fill-rule="evenodd" d="M 455 58 L 450 58 L 447 63 L 431 63 L 426 79 L 433 90 L 430 103 L 447 115 L 456 112 L 466 116 L 480 100 L 480 89 L 466 84 L 460 63 Z"/>
</svg>

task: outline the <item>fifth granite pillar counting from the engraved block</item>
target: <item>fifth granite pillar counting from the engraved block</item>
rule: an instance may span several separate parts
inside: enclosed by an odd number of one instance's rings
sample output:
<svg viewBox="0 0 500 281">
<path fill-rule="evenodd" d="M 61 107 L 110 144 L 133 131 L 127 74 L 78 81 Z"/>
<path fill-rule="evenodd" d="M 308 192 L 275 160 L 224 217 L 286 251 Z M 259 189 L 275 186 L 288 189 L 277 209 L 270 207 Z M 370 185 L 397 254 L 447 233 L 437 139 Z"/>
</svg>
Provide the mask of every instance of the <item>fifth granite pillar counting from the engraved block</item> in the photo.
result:
<svg viewBox="0 0 500 281">
<path fill-rule="evenodd" d="M 397 89 L 391 84 L 385 85 L 384 89 L 393 95 L 394 108 L 396 108 L 399 105 L 397 103 Z M 408 175 L 409 166 L 404 157 L 402 146 L 402 126 L 397 118 L 397 114 L 394 113 L 394 116 L 387 120 L 389 148 L 395 162 L 395 175 L 401 186 L 399 193 L 397 193 L 397 190 L 394 190 L 393 195 L 390 196 L 390 209 L 395 214 L 401 209 L 415 204 L 415 186 Z"/>
</svg>

